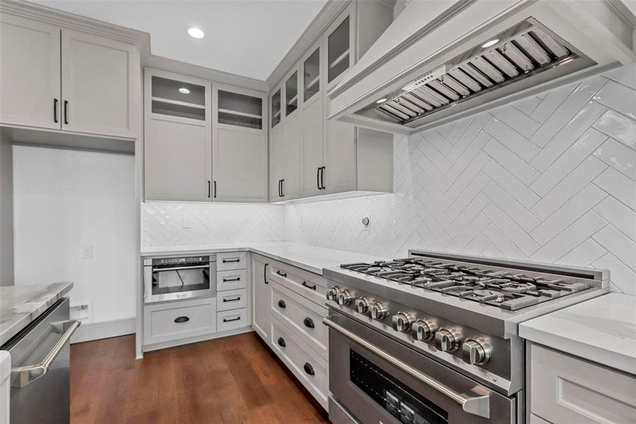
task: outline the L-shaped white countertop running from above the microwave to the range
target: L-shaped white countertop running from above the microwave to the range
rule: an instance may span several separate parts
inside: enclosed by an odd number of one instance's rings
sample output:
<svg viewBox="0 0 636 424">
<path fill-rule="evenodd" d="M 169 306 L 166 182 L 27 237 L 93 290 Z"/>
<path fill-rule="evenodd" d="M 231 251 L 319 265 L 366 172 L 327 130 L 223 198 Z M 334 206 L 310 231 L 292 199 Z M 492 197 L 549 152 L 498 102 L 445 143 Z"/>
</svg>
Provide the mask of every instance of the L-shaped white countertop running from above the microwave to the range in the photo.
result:
<svg viewBox="0 0 636 424">
<path fill-rule="evenodd" d="M 369 254 L 348 252 L 346 250 L 328 249 L 311 245 L 290 242 L 254 242 L 236 243 L 232 245 L 193 245 L 170 247 L 146 247 L 141 249 L 143 257 L 165 254 L 195 254 L 250 251 L 263 256 L 276 259 L 286 264 L 297 266 L 300 269 L 323 274 L 323 268 L 339 266 L 351 262 L 368 262 L 385 259 Z"/>
</svg>

